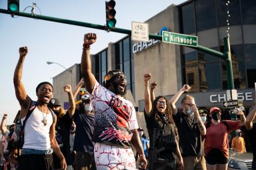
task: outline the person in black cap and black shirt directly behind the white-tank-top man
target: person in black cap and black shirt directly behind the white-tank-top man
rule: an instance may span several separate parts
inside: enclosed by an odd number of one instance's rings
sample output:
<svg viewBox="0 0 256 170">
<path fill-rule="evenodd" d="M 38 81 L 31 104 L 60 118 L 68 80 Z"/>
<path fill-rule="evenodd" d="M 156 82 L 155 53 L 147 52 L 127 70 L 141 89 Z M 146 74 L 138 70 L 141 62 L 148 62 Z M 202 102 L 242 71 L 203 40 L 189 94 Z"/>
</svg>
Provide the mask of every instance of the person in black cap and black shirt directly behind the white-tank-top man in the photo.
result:
<svg viewBox="0 0 256 170">
<path fill-rule="evenodd" d="M 72 102 L 73 94 L 71 92 L 71 85 L 66 85 L 63 87 L 64 92 L 67 92 L 69 96 L 69 100 Z M 68 112 L 75 112 L 75 104 L 70 104 Z M 57 143 L 59 144 L 59 148 L 61 149 L 61 153 L 63 153 L 66 162 L 67 162 L 67 170 L 72 170 L 72 160 L 71 160 L 71 151 L 69 145 L 69 127 L 71 126 L 71 122 L 69 120 L 69 114 L 66 114 L 64 108 L 59 104 L 59 100 L 57 98 L 51 98 L 48 107 L 53 110 L 53 112 L 57 116 L 57 122 L 55 125 L 55 138 Z M 56 155 L 53 154 L 53 164 L 54 169 L 61 169 L 60 161 Z"/>
</svg>

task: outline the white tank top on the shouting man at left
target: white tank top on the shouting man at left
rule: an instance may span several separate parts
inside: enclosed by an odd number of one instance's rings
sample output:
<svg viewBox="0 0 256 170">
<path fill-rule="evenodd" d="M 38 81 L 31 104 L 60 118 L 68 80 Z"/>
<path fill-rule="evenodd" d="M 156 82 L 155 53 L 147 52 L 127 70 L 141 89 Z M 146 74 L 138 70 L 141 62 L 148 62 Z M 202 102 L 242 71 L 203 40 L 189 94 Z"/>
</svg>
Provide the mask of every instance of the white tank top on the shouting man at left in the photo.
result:
<svg viewBox="0 0 256 170">
<path fill-rule="evenodd" d="M 46 126 L 43 125 L 43 118 L 47 119 Z M 21 120 L 23 122 L 25 118 Z M 51 111 L 48 114 L 44 114 L 37 107 L 31 113 L 31 116 L 27 119 L 24 128 L 24 145 L 23 148 L 47 150 L 51 148 L 49 131 L 53 124 L 53 116 Z"/>
</svg>

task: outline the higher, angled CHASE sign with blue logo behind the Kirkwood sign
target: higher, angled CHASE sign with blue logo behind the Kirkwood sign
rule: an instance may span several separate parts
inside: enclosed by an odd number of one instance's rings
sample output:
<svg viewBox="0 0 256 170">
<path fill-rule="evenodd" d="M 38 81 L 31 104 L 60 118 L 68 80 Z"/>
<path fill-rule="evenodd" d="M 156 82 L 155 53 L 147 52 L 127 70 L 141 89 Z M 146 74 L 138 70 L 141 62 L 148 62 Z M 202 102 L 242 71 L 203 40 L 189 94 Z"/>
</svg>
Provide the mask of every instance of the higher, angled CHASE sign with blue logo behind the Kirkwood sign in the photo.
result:
<svg viewBox="0 0 256 170">
<path fill-rule="evenodd" d="M 157 35 L 162 35 L 162 31 L 169 31 L 169 29 L 167 29 L 167 27 L 162 27 L 161 30 L 159 31 L 159 33 L 157 33 Z M 161 41 L 155 40 L 155 39 L 150 39 L 147 42 L 141 41 L 141 42 L 138 42 L 137 44 L 133 44 L 133 53 L 141 52 L 142 50 L 145 50 L 159 42 L 161 42 Z"/>
</svg>

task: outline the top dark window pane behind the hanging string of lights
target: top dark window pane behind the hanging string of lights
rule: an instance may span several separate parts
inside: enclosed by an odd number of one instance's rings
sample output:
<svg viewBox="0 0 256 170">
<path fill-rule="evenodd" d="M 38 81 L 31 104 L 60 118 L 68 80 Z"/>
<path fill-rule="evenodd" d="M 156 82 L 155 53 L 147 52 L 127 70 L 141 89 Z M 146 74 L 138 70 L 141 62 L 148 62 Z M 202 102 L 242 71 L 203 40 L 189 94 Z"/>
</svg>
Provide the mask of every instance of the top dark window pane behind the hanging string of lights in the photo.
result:
<svg viewBox="0 0 256 170">
<path fill-rule="evenodd" d="M 227 26 L 227 1 L 217 0 L 217 13 L 218 13 L 218 25 L 219 27 Z M 229 25 L 240 25 L 240 5 L 239 0 L 232 0 L 229 3 Z"/>
</svg>

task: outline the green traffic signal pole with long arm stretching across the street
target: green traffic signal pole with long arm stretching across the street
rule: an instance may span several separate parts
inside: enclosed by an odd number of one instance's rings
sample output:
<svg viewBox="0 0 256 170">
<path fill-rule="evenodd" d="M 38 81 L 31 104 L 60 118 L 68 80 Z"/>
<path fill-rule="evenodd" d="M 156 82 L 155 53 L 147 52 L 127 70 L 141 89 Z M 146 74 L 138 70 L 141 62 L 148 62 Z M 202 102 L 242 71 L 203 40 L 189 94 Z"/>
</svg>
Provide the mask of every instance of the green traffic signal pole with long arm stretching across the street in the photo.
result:
<svg viewBox="0 0 256 170">
<path fill-rule="evenodd" d="M 27 18 L 33 18 L 33 19 L 41 19 L 45 21 L 53 21 L 56 23 L 64 23 L 64 24 L 69 24 L 69 25 L 77 25 L 81 27 L 88 27 L 91 29 L 101 29 L 105 30 L 106 27 L 105 25 L 96 25 L 92 23 L 83 23 L 81 21 L 73 21 L 69 19 L 60 19 L 60 18 L 55 18 L 55 17 L 48 17 L 44 15 L 33 15 L 31 13 L 23 13 L 23 12 L 10 12 L 5 9 L 0 9 L 0 13 L 5 13 L 9 15 L 17 15 L 21 17 L 27 17 Z M 122 33 L 126 35 L 131 35 L 131 30 L 127 29 L 119 29 L 115 28 L 111 30 L 111 32 L 115 33 Z M 149 39 L 155 39 L 162 41 L 162 36 L 161 35 L 155 35 L 155 34 L 149 34 Z M 184 45 L 185 46 L 185 45 Z M 225 47 L 225 52 L 219 52 L 217 50 L 213 50 L 211 48 L 207 48 L 205 46 L 187 46 L 189 48 L 194 48 L 195 50 L 199 50 L 201 52 L 205 52 L 207 54 L 212 54 L 214 56 L 217 56 L 223 60 L 226 60 L 226 68 L 227 68 L 227 88 L 229 89 L 234 89 L 234 83 L 233 83 L 233 71 L 232 71 L 232 62 L 231 62 L 231 52 L 230 52 L 230 44 L 229 44 L 229 38 L 224 38 L 224 47 Z"/>
</svg>

